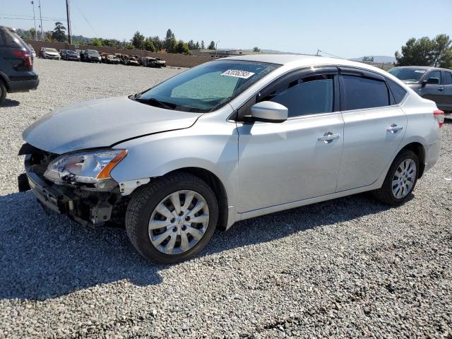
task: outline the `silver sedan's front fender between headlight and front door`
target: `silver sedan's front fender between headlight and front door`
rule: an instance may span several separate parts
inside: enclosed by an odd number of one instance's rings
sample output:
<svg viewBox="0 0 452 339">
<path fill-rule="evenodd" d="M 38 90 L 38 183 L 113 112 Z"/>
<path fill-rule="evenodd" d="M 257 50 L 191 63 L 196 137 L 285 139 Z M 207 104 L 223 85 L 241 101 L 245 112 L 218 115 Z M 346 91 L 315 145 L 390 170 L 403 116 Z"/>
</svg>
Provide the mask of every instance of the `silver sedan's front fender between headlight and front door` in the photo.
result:
<svg viewBox="0 0 452 339">
<path fill-rule="evenodd" d="M 230 105 L 222 115 L 232 114 Z M 169 112 L 170 114 L 171 112 Z M 203 114 L 189 129 L 157 133 L 115 145 L 128 150 L 126 158 L 112 169 L 117 182 L 160 177 L 176 169 L 199 167 L 215 174 L 225 187 L 228 207 L 234 211 L 237 198 L 237 126 L 218 119 L 218 112 Z M 232 225 L 235 218 L 228 220 Z"/>
</svg>

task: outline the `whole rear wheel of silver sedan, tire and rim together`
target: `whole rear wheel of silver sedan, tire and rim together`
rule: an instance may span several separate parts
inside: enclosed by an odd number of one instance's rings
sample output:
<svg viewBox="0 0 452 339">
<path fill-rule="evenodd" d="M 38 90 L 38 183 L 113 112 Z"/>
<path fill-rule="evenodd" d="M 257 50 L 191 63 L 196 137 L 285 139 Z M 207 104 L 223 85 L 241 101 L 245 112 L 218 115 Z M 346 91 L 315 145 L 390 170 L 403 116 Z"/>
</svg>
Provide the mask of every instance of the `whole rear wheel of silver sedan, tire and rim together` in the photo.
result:
<svg viewBox="0 0 452 339">
<path fill-rule="evenodd" d="M 394 159 L 383 185 L 374 196 L 387 205 L 396 206 L 410 198 L 419 175 L 419 158 L 412 150 L 403 150 Z"/>
</svg>

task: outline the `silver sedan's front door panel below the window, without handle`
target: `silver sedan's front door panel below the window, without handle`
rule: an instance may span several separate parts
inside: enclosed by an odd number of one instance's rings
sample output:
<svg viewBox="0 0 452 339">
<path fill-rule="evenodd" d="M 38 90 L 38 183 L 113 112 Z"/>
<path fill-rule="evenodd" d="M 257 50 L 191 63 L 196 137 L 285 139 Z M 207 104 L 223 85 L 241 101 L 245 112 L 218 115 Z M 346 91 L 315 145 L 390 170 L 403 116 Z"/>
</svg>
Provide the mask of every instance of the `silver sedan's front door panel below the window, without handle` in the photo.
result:
<svg viewBox="0 0 452 339">
<path fill-rule="evenodd" d="M 281 124 L 239 124 L 239 198 L 246 212 L 335 191 L 343 139 L 340 113 L 288 119 Z"/>
</svg>

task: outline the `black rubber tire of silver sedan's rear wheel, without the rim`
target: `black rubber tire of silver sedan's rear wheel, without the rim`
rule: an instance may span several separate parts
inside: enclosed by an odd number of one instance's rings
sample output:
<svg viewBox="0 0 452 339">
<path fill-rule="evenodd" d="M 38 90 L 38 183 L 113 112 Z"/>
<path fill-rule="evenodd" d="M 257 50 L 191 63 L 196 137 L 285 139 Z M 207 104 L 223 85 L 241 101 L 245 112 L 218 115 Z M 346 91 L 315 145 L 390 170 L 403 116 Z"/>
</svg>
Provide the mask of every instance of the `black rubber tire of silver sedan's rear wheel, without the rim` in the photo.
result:
<svg viewBox="0 0 452 339">
<path fill-rule="evenodd" d="M 398 169 L 398 166 L 407 159 L 412 159 L 415 162 L 416 165 L 416 175 L 414 182 L 412 184 L 411 190 L 409 193 L 404 196 L 403 198 L 396 198 L 393 194 L 393 178 L 396 174 L 396 170 Z M 402 203 L 405 203 L 408 199 L 410 199 L 412 195 L 412 191 L 414 191 L 417 179 L 419 177 L 419 158 L 417 157 L 416 153 L 414 153 L 412 150 L 403 150 L 400 152 L 396 159 L 394 159 L 391 167 L 389 167 L 388 174 L 386 174 L 386 178 L 384 179 L 383 185 L 381 185 L 380 189 L 376 189 L 374 193 L 374 197 L 381 201 L 382 203 L 385 203 L 389 206 L 398 206 Z"/>
</svg>

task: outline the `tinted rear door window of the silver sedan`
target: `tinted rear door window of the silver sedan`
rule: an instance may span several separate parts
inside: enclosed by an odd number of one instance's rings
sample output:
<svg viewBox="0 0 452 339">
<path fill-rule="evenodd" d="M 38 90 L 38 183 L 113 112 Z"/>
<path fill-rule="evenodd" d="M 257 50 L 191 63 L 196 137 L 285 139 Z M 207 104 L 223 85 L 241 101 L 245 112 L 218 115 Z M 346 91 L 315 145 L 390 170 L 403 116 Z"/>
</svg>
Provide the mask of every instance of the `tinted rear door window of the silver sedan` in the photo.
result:
<svg viewBox="0 0 452 339">
<path fill-rule="evenodd" d="M 390 105 L 388 87 L 384 81 L 347 75 L 343 75 L 342 78 L 343 111 Z"/>
</svg>

